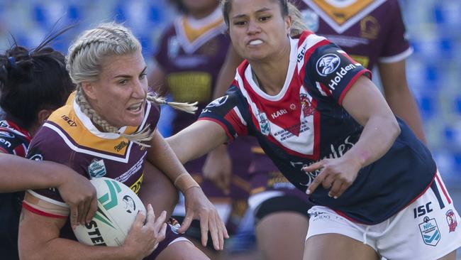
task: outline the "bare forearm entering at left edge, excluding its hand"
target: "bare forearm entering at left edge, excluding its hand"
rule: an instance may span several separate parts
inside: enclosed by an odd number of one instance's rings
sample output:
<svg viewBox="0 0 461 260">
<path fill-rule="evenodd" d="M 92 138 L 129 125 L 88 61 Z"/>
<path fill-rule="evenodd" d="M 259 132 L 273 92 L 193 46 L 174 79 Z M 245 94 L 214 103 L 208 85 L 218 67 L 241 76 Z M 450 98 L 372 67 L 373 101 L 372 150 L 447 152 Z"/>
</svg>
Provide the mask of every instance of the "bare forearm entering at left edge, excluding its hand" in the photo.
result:
<svg viewBox="0 0 461 260">
<path fill-rule="evenodd" d="M 32 161 L 11 154 L 0 153 L 0 192 L 56 188 L 67 173 L 67 166 L 49 161 Z"/>
</svg>

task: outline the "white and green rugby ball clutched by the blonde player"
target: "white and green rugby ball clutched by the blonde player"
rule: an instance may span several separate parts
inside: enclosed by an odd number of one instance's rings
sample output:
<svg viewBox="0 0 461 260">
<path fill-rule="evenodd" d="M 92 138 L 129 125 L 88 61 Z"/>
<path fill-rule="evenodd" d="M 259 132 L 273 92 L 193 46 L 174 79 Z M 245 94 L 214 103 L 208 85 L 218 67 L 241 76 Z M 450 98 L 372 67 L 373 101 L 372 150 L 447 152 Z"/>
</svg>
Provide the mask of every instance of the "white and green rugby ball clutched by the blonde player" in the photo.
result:
<svg viewBox="0 0 461 260">
<path fill-rule="evenodd" d="M 83 244 L 117 247 L 123 244 L 143 202 L 128 186 L 111 178 L 90 180 L 96 188 L 98 210 L 88 224 L 74 229 L 75 237 Z"/>
</svg>

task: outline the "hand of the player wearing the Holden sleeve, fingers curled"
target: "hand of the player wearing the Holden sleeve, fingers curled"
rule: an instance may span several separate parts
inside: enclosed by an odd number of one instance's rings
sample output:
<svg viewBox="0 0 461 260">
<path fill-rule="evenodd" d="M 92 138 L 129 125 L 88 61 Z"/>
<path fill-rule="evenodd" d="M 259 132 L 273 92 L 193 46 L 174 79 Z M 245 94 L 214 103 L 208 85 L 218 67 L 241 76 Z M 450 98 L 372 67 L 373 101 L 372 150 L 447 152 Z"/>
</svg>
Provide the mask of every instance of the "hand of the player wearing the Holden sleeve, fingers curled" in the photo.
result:
<svg viewBox="0 0 461 260">
<path fill-rule="evenodd" d="M 330 190 L 328 196 L 336 199 L 352 185 L 360 168 L 362 168 L 361 163 L 354 158 L 348 158 L 346 154 L 340 158 L 323 159 L 304 167 L 303 170 L 306 172 L 321 169 L 321 172 L 318 173 L 307 188 L 306 193 L 313 193 L 318 185 L 322 184 L 323 188 Z"/>
</svg>

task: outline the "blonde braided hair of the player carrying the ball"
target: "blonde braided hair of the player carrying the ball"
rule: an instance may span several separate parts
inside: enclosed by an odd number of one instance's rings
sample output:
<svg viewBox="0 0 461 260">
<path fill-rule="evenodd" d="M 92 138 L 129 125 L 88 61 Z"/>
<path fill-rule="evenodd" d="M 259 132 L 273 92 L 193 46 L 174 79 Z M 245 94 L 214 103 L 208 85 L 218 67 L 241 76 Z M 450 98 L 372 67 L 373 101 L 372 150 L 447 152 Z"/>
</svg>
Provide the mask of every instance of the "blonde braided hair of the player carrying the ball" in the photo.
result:
<svg viewBox="0 0 461 260">
<path fill-rule="evenodd" d="M 129 141 L 138 143 L 140 146 L 150 147 L 144 142 L 150 141 L 153 132 L 150 131 L 149 125 L 134 134 L 121 133 L 118 128 L 104 120 L 89 104 L 84 91 L 82 82 L 96 82 L 99 80 L 99 73 L 102 68 L 104 58 L 113 55 L 126 55 L 136 53 L 141 50 L 138 39 L 133 36 L 128 28 L 117 23 L 102 23 L 94 29 L 84 31 L 77 40 L 72 43 L 67 55 L 67 70 L 69 71 L 72 81 L 77 85 L 75 101 L 82 112 L 99 126 L 103 131 L 120 134 Z M 171 107 L 183 111 L 194 113 L 195 104 L 166 102 L 161 97 L 148 95 L 149 102 L 156 104 L 169 104 Z"/>
</svg>

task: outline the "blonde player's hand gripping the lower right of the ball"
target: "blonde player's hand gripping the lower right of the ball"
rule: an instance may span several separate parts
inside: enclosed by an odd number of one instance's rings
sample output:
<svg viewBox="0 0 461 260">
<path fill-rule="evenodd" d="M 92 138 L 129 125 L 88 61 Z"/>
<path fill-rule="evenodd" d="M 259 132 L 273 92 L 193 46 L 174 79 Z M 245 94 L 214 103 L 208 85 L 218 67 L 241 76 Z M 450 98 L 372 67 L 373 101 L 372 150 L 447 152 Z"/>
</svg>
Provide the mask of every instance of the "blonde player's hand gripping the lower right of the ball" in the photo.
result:
<svg viewBox="0 0 461 260">
<path fill-rule="evenodd" d="M 133 259 L 143 259 L 152 254 L 158 244 L 165 239 L 167 231 L 166 217 L 167 212 L 164 210 L 156 218 L 150 204 L 148 205 L 147 216 L 143 211 L 138 212 L 122 246 L 126 249 L 128 255 L 133 256 Z"/>
</svg>

